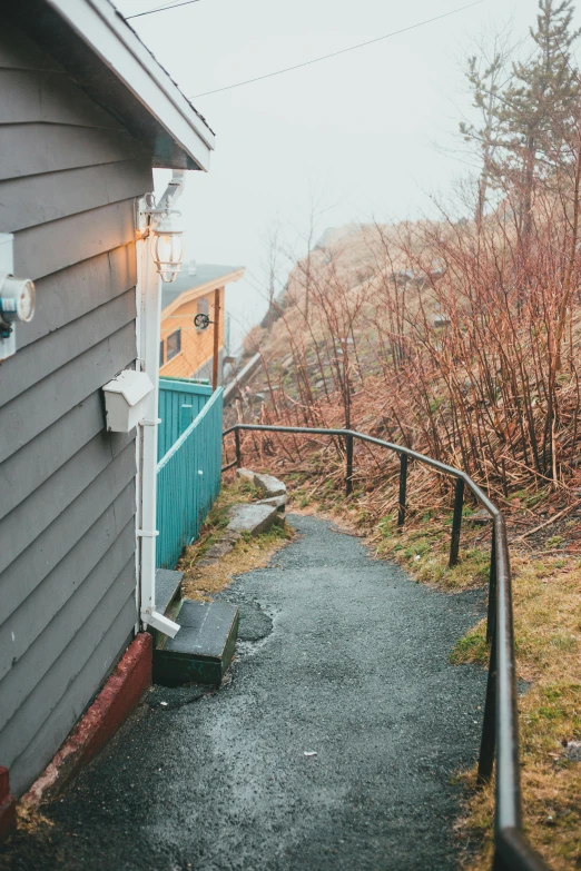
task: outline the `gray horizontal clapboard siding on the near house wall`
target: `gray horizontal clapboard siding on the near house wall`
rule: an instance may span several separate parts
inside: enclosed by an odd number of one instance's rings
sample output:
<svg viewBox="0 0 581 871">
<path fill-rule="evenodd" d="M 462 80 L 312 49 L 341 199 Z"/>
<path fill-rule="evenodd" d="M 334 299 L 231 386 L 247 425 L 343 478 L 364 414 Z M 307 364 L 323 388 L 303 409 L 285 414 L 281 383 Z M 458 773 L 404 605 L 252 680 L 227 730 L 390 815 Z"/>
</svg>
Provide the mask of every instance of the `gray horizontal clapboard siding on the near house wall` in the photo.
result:
<svg viewBox="0 0 581 871">
<path fill-rule="evenodd" d="M 136 359 L 142 147 L 18 31 L 0 31 L 0 232 L 37 313 L 0 366 L 0 765 L 24 792 L 130 642 L 135 432 L 102 385 Z"/>
</svg>

